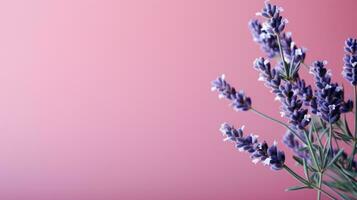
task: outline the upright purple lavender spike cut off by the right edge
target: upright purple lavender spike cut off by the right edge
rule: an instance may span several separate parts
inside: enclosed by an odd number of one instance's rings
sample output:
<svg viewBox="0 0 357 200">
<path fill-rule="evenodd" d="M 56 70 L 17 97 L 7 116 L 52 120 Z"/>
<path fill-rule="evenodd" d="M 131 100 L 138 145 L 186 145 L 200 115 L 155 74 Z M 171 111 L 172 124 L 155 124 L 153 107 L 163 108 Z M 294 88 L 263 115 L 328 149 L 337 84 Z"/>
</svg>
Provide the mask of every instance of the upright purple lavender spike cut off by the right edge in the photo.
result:
<svg viewBox="0 0 357 200">
<path fill-rule="evenodd" d="M 345 57 L 342 75 L 352 85 L 357 85 L 357 39 L 348 38 L 345 42 Z"/>
</svg>

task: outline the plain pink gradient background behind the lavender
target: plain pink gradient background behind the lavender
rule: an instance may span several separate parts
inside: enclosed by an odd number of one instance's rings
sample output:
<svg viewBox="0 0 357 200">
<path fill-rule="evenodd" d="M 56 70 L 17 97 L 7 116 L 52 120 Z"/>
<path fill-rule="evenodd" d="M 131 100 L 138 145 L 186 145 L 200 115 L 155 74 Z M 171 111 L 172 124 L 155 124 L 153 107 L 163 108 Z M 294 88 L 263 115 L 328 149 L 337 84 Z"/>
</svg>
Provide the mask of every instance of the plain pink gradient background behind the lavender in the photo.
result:
<svg viewBox="0 0 357 200">
<path fill-rule="evenodd" d="M 357 36 L 356 1 L 274 3 L 308 48 L 308 62 L 328 60 L 342 81 L 343 42 Z M 210 92 L 225 73 L 257 108 L 279 117 L 252 68 L 263 54 L 247 23 L 262 5 L 1 1 L 0 199 L 315 198 L 284 192 L 296 181 L 254 166 L 218 131 L 227 121 L 269 142 L 284 133 Z"/>
</svg>

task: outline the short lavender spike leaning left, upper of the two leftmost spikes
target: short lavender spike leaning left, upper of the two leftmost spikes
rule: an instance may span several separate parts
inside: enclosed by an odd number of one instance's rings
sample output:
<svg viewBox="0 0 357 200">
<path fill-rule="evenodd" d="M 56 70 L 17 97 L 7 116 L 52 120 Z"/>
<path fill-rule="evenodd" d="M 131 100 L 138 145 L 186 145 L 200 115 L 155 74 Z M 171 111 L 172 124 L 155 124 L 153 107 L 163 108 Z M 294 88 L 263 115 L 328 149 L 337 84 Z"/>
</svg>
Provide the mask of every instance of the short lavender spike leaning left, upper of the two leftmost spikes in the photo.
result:
<svg viewBox="0 0 357 200">
<path fill-rule="evenodd" d="M 231 87 L 226 82 L 224 75 L 212 81 L 211 90 L 218 91 L 219 98 L 226 98 L 231 100 L 232 107 L 237 111 L 247 111 L 252 107 L 252 101 L 250 97 L 247 97 L 243 91 L 237 92 L 234 87 Z"/>
</svg>

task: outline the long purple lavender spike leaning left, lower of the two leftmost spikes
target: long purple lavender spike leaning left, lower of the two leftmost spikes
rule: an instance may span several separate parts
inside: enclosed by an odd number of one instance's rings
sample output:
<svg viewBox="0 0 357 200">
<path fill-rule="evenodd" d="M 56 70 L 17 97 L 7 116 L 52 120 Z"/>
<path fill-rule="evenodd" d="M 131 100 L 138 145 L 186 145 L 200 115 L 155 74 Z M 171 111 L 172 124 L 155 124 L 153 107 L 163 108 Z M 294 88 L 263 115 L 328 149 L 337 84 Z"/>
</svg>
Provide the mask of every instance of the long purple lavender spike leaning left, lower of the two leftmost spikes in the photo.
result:
<svg viewBox="0 0 357 200">
<path fill-rule="evenodd" d="M 265 141 L 259 143 L 256 135 L 244 136 L 243 128 L 244 126 L 235 129 L 233 126 L 223 123 L 220 131 L 226 136 L 225 141 L 234 142 L 239 151 L 248 152 L 253 163 L 262 162 L 265 165 L 270 165 L 273 170 L 282 169 L 285 162 L 285 154 L 277 149 L 276 142 L 271 147 Z"/>
</svg>

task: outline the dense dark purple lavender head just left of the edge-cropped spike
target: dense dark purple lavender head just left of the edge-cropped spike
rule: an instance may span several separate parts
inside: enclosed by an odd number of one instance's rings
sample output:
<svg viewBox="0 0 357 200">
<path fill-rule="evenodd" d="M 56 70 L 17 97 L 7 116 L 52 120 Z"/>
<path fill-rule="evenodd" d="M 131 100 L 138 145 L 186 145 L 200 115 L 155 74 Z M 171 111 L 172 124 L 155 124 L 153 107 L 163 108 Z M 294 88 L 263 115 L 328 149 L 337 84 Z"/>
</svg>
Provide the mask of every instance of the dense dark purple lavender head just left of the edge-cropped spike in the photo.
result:
<svg viewBox="0 0 357 200">
<path fill-rule="evenodd" d="M 320 115 L 329 123 L 334 123 L 340 119 L 341 113 L 352 111 L 353 102 L 344 101 L 343 88 L 331 82 L 331 74 L 325 68 L 326 64 L 326 62 L 316 61 L 311 66 L 310 72 L 315 78 L 317 87 L 311 106 L 314 114 Z"/>
</svg>

